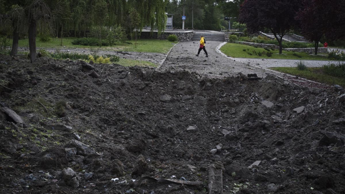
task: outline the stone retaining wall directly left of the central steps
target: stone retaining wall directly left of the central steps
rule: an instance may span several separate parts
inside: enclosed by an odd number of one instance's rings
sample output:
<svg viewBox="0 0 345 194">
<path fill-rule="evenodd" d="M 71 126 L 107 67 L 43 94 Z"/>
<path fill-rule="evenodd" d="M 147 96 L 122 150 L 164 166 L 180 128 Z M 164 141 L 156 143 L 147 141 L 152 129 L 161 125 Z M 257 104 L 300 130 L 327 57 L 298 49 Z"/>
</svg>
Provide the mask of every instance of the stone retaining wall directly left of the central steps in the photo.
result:
<svg viewBox="0 0 345 194">
<path fill-rule="evenodd" d="M 158 36 L 158 32 L 153 32 L 152 35 L 150 32 L 141 32 L 140 38 L 156 38 L 156 39 L 167 39 L 169 35 L 176 35 L 178 41 L 184 42 L 189 41 L 193 38 L 194 31 L 178 31 L 178 32 L 162 32 Z"/>
</svg>

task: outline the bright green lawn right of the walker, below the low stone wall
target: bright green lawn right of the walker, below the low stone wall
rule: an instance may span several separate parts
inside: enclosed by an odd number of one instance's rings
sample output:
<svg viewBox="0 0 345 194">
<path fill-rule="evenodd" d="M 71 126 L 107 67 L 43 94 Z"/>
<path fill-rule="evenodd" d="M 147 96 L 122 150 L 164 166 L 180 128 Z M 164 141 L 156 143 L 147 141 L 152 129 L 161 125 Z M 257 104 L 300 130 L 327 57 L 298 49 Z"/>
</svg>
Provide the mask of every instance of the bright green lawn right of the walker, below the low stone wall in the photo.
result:
<svg viewBox="0 0 345 194">
<path fill-rule="evenodd" d="M 262 59 L 298 59 L 298 60 L 329 60 L 327 56 L 323 55 L 309 55 L 306 53 L 300 52 L 290 52 L 284 51 L 283 54 L 279 55 L 279 50 L 270 50 L 269 52 L 273 52 L 271 57 L 266 56 L 263 54 L 259 56 L 259 52 L 268 51 L 263 48 L 255 48 L 253 46 L 242 45 L 237 43 L 226 43 L 224 46 L 220 48 L 220 50 L 227 56 L 234 57 L 234 58 L 262 58 Z M 245 50 L 245 51 L 244 51 Z M 256 54 L 255 54 L 255 52 Z M 252 55 L 249 55 L 248 52 Z"/>
</svg>

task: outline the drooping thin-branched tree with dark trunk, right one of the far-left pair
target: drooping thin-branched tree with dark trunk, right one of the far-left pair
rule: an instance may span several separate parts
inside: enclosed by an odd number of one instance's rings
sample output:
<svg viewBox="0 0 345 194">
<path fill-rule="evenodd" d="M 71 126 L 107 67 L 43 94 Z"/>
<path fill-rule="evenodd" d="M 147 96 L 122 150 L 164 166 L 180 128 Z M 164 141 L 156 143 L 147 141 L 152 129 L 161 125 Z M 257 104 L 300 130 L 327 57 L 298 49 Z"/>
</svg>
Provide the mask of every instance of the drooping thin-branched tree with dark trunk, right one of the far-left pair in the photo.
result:
<svg viewBox="0 0 345 194">
<path fill-rule="evenodd" d="M 49 28 L 51 26 L 52 13 L 45 2 L 42 0 L 34 0 L 28 7 L 26 7 L 25 14 L 28 27 L 30 61 L 32 63 L 37 59 L 37 27 L 39 27 L 39 29 Z"/>
</svg>

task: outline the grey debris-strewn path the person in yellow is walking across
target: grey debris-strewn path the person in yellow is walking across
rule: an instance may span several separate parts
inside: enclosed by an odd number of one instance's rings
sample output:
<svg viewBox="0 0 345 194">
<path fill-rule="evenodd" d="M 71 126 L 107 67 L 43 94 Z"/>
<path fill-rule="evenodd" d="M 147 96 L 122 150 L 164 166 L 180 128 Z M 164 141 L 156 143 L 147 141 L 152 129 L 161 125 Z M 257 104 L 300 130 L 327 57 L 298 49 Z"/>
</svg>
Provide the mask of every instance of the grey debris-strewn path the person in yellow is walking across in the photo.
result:
<svg viewBox="0 0 345 194">
<path fill-rule="evenodd" d="M 199 49 L 198 41 L 179 42 L 171 49 L 159 70 L 196 71 L 200 75 L 208 77 L 236 76 L 239 72 L 244 75 L 256 73 L 258 77 L 265 77 L 269 72 L 222 56 L 217 52 L 220 43 L 219 41 L 207 41 L 206 50 L 209 57 L 205 57 L 203 50 L 199 56 L 195 56 Z"/>
</svg>

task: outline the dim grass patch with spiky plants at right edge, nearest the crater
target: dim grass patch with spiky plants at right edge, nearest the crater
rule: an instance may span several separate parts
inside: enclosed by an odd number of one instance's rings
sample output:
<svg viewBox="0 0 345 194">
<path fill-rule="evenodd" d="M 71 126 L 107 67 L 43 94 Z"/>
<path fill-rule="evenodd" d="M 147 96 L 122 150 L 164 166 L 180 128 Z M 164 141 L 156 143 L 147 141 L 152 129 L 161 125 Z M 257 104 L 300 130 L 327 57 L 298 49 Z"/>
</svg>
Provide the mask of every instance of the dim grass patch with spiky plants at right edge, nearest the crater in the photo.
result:
<svg viewBox="0 0 345 194">
<path fill-rule="evenodd" d="M 298 70 L 296 67 L 271 67 L 269 69 L 290 74 L 293 76 L 302 77 L 305 79 L 317 81 L 319 83 L 334 85 L 338 84 L 345 87 L 345 77 L 339 78 L 324 74 L 324 70 L 321 67 L 308 67 L 307 70 Z"/>
</svg>

